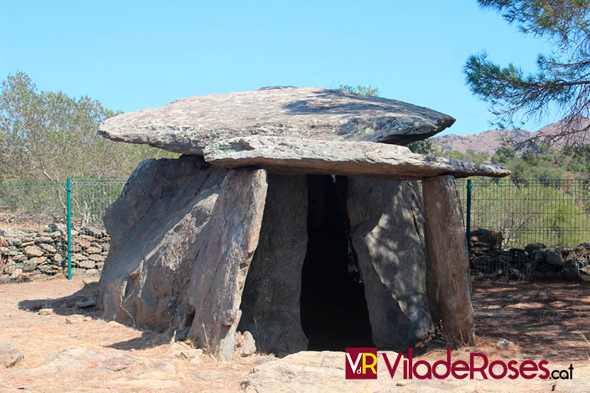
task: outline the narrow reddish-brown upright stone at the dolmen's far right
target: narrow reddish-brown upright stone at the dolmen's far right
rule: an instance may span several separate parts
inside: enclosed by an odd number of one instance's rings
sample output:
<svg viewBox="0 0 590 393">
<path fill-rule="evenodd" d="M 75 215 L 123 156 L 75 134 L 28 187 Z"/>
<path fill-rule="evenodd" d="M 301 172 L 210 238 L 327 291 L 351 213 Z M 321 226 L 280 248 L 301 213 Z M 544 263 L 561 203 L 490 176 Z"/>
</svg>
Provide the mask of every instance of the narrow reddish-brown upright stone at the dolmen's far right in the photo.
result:
<svg viewBox="0 0 590 393">
<path fill-rule="evenodd" d="M 469 257 L 463 212 L 452 176 L 422 181 L 427 294 L 434 325 L 455 345 L 474 345 Z"/>
</svg>

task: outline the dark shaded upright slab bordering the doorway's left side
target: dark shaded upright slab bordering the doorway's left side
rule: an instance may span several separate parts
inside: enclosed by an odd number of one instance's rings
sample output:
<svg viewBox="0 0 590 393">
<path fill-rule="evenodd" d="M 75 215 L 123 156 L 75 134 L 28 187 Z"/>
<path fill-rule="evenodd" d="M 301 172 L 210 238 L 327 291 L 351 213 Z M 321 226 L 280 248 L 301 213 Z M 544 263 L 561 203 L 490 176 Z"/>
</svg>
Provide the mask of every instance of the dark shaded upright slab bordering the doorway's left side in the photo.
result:
<svg viewBox="0 0 590 393">
<path fill-rule="evenodd" d="M 265 353 L 307 349 L 301 328 L 301 269 L 307 249 L 305 175 L 268 175 L 264 218 L 242 293 L 240 331 Z"/>
</svg>

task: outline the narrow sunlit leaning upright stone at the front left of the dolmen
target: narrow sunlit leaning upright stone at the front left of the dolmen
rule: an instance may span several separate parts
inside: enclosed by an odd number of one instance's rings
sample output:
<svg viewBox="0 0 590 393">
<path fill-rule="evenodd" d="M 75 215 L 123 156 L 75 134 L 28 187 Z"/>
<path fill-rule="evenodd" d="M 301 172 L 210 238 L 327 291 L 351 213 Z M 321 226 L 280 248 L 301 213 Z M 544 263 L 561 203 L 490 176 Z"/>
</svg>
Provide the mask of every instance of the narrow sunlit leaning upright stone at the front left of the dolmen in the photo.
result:
<svg viewBox="0 0 590 393">
<path fill-rule="evenodd" d="M 265 170 L 230 171 L 200 237 L 189 287 L 195 316 L 188 338 L 221 361 L 232 360 L 242 290 L 258 245 L 266 197 Z"/>
</svg>

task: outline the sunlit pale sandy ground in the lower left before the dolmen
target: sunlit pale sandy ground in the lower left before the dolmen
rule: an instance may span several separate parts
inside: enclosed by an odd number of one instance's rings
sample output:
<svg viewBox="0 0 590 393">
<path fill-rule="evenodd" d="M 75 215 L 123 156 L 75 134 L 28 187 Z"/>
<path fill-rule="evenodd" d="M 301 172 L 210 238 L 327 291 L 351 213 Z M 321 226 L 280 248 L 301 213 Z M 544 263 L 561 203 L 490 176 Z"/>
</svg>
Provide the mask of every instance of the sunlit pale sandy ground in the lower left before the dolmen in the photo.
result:
<svg viewBox="0 0 590 393">
<path fill-rule="evenodd" d="M 176 368 L 176 375 L 169 375 L 166 379 L 179 382 L 180 386 L 166 390 L 175 392 L 239 391 L 240 382 L 258 364 L 259 357 L 236 358 L 231 363 L 220 363 L 203 356 L 202 362 L 194 365 L 188 360 L 168 355 L 166 351 L 170 345 L 163 342 L 161 336 L 118 323 L 107 323 L 97 319 L 95 312 L 85 313 L 76 306 L 55 308 L 55 314 L 49 316 L 39 315 L 38 311 L 26 311 L 40 305 L 55 306 L 55 299 L 76 299 L 78 295 L 95 297 L 97 281 L 98 278 L 53 279 L 0 286 L 0 343 L 10 341 L 25 354 L 24 359 L 14 367 L 0 370 L 0 391 L 16 391 L 22 386 L 36 392 L 96 392 L 102 389 L 112 392 L 113 388 L 126 392 L 151 390 L 149 382 L 146 386 L 122 387 L 122 383 L 112 383 L 112 375 L 89 375 L 86 371 L 97 363 L 92 361 L 80 370 L 63 370 L 52 375 L 37 375 L 36 372 L 15 375 L 15 371 L 43 365 L 43 360 L 55 350 L 70 346 L 86 348 L 106 358 L 130 354 L 171 362 Z"/>
</svg>

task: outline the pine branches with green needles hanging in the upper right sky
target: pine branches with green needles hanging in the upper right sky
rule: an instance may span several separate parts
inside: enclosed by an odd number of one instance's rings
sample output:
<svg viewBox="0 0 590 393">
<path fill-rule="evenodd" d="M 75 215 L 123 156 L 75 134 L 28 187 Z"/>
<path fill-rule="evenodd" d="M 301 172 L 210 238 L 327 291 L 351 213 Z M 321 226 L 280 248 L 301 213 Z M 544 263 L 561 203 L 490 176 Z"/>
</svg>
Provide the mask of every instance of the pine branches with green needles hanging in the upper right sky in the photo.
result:
<svg viewBox="0 0 590 393">
<path fill-rule="evenodd" d="M 552 55 L 537 57 L 538 70 L 525 74 L 488 60 L 486 52 L 471 55 L 464 66 L 473 94 L 490 104 L 498 126 L 515 127 L 540 120 L 557 110 L 564 119 L 555 135 L 538 138 L 583 137 L 590 129 L 590 0 L 478 0 L 483 9 L 502 14 L 525 34 L 545 38 Z"/>
</svg>

